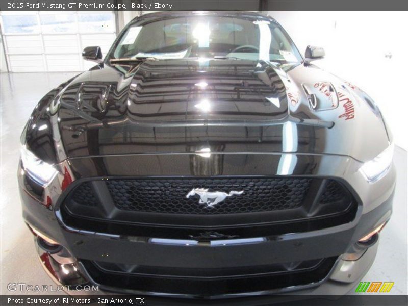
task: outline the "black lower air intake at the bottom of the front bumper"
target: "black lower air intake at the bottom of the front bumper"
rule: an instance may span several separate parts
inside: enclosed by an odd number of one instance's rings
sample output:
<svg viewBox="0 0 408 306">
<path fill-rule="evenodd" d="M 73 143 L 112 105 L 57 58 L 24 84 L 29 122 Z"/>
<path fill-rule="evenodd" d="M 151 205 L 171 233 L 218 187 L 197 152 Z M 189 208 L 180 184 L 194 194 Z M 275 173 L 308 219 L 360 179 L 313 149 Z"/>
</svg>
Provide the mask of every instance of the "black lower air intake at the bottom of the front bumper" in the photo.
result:
<svg viewBox="0 0 408 306">
<path fill-rule="evenodd" d="M 146 292 L 162 292 L 190 295 L 224 295 L 240 294 L 248 292 L 260 292 L 267 290 L 280 290 L 283 288 L 300 289 L 302 285 L 315 284 L 322 282 L 333 268 L 337 257 L 325 258 L 315 261 L 301 263 L 298 267 L 291 269 L 282 269 L 272 271 L 273 267 L 248 267 L 246 271 L 235 269 L 235 273 L 245 273 L 241 275 L 228 275 L 230 272 L 223 269 L 173 269 L 167 271 L 196 274 L 187 275 L 169 275 L 166 270 L 158 267 L 149 269 L 148 267 L 139 267 L 142 272 L 133 272 L 118 269 L 117 265 L 110 263 L 98 263 L 87 260 L 81 260 L 85 269 L 101 286 L 121 290 L 137 290 Z M 263 268 L 263 273 L 257 270 Z M 275 267 L 276 269 L 276 267 Z M 161 275 L 157 271 L 164 270 Z M 189 271 L 193 270 L 193 271 Z M 218 277 L 208 277 L 208 274 L 221 274 Z M 296 288 L 295 286 L 299 286 Z M 129 291 L 127 291 L 129 294 Z M 191 303 L 187 303 L 191 304 Z M 232 303 L 234 304 L 234 303 Z M 251 304 L 251 303 L 250 303 Z"/>
</svg>

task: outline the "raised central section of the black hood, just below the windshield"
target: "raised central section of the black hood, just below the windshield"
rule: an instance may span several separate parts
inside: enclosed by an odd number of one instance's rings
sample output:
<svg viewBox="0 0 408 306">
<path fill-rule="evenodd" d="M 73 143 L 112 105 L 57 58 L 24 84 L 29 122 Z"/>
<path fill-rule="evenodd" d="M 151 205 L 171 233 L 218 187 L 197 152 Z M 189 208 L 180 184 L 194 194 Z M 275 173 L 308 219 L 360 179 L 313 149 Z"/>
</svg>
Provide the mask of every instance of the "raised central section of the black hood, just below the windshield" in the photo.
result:
<svg viewBox="0 0 408 306">
<path fill-rule="evenodd" d="M 151 126 L 276 120 L 287 114 L 282 80 L 271 66 L 251 61 L 144 62 L 127 96 L 129 119 Z"/>
</svg>

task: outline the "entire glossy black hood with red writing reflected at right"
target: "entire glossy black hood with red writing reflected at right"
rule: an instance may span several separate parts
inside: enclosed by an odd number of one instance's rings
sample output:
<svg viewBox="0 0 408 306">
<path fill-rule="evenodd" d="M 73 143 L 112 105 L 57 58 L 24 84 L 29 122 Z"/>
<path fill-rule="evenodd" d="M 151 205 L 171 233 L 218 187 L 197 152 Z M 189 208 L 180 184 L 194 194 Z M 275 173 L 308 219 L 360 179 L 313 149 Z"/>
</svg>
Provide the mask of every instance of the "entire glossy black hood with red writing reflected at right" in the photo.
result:
<svg viewBox="0 0 408 306">
<path fill-rule="evenodd" d="M 47 114 L 52 128 L 43 133 L 53 138 L 55 156 L 45 159 L 54 162 L 186 152 L 296 152 L 367 161 L 389 142 L 378 109 L 362 90 L 303 63 L 102 64 L 64 84 L 47 108 L 29 124 Z M 29 145 L 38 145 L 33 140 L 41 132 L 28 138 Z"/>
</svg>

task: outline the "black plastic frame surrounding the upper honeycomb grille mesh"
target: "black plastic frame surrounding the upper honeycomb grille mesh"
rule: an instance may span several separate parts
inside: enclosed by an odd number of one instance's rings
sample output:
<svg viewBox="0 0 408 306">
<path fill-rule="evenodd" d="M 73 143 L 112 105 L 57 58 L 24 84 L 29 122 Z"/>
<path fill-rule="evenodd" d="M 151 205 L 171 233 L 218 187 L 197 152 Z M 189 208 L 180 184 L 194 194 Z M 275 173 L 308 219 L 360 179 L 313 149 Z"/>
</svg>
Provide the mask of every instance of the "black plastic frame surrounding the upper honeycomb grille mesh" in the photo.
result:
<svg viewBox="0 0 408 306">
<path fill-rule="evenodd" d="M 168 178 L 170 176 L 164 176 Z M 217 176 L 220 177 L 220 176 Z M 230 176 L 223 176 L 230 177 Z M 236 176 L 247 177 L 247 176 Z M 265 177 L 265 176 L 251 176 Z M 281 177 L 281 176 L 279 176 Z M 285 177 L 285 176 L 282 176 Z M 361 210 L 361 201 L 355 192 L 344 180 L 337 177 L 316 177 L 299 175 L 297 177 L 311 177 L 316 180 L 333 179 L 339 182 L 350 194 L 350 201 L 344 209 L 322 211 L 322 215 L 316 215 L 316 210 L 309 215 L 305 214 L 303 207 L 260 213 L 241 213 L 223 215 L 179 215 L 160 213 L 139 213 L 120 211 L 114 206 L 109 218 L 101 214 L 100 210 L 92 207 L 67 208 L 69 194 L 79 184 L 84 182 L 103 182 L 109 179 L 129 179 L 129 177 L 92 177 L 80 179 L 71 184 L 59 199 L 57 210 L 61 212 L 61 222 L 79 230 L 101 232 L 113 235 L 132 235 L 157 238 L 186 239 L 190 235 L 199 235 L 202 230 L 221 231 L 226 235 L 239 235 L 240 238 L 263 237 L 280 235 L 285 233 L 305 232 L 320 230 L 350 223 L 358 217 Z M 137 177 L 137 179 L 162 179 L 163 176 Z M 189 178 L 196 178 L 190 176 Z M 207 177 L 212 179 L 213 177 Z M 95 181 L 96 180 L 96 181 Z M 325 208 L 329 206 L 324 206 Z M 332 206 L 333 207 L 333 206 Z"/>
</svg>

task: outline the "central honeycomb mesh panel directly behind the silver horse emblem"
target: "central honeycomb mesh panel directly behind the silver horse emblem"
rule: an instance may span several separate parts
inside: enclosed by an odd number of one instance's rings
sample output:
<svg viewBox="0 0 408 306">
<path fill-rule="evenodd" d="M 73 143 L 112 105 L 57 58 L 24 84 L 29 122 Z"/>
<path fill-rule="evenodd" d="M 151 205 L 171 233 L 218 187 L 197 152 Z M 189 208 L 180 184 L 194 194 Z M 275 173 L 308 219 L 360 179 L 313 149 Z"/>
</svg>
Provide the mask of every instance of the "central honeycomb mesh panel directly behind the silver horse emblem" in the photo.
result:
<svg viewBox="0 0 408 306">
<path fill-rule="evenodd" d="M 124 211 L 215 215 L 266 212 L 300 207 L 311 179 L 157 179 L 108 180 L 114 205 Z M 209 191 L 243 191 L 222 201 L 222 205 L 199 203 L 199 195 L 186 195 L 194 188 Z"/>
</svg>

